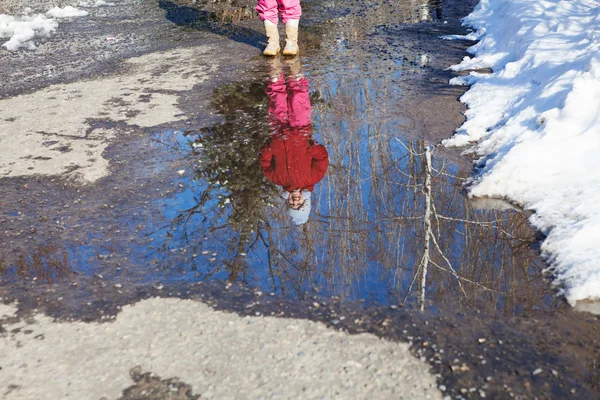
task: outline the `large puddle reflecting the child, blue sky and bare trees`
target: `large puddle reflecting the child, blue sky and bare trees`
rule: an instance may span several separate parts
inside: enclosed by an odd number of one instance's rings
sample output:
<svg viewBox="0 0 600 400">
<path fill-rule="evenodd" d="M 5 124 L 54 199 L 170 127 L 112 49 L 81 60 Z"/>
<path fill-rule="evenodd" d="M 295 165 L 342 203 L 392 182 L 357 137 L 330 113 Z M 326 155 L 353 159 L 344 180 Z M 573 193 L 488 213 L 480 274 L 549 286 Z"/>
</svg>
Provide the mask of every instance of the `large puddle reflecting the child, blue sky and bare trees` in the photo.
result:
<svg viewBox="0 0 600 400">
<path fill-rule="evenodd" d="M 198 88 L 212 115 L 110 146 L 118 167 L 93 188 L 7 197 L 2 283 L 225 280 L 301 299 L 564 310 L 528 216 L 472 204 L 470 160 L 436 147 L 462 118 L 444 69 L 464 55 L 438 37 L 467 6 L 336 4 L 307 2 L 299 59 Z M 300 196 L 282 186 L 307 189 L 293 217 Z"/>
</svg>

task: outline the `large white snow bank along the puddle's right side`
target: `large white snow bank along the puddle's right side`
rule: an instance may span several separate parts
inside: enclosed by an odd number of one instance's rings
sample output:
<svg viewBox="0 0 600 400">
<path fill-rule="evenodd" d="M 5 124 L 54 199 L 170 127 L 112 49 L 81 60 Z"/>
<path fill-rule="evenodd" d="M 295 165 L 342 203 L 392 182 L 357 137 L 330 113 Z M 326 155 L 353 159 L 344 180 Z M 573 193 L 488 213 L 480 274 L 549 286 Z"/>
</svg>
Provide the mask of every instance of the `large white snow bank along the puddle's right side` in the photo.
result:
<svg viewBox="0 0 600 400">
<path fill-rule="evenodd" d="M 464 23 L 480 41 L 454 70 L 467 121 L 448 146 L 482 170 L 473 196 L 535 214 L 555 283 L 569 303 L 600 298 L 600 6 L 596 0 L 481 0 Z M 473 35 L 471 35 L 471 38 Z"/>
</svg>

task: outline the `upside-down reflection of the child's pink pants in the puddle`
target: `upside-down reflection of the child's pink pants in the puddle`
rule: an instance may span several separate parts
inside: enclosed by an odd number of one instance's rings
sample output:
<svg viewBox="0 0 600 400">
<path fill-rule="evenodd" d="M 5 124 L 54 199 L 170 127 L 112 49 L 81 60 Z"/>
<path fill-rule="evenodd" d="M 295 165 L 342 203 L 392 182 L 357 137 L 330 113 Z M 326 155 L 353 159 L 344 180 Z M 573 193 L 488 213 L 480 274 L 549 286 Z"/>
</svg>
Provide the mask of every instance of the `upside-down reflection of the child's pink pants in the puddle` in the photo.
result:
<svg viewBox="0 0 600 400">
<path fill-rule="evenodd" d="M 281 74 L 275 82 L 269 82 L 266 92 L 271 118 L 292 128 L 310 124 L 308 79 L 289 79 L 286 82 Z"/>
</svg>

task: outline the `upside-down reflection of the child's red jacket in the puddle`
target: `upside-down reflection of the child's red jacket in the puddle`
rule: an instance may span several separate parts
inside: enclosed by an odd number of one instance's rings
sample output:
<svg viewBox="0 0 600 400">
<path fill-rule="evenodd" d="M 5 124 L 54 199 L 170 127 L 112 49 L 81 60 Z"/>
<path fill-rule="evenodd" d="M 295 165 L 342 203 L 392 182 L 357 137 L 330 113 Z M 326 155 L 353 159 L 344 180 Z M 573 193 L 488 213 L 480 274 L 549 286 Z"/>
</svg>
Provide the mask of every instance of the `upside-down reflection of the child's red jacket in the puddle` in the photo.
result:
<svg viewBox="0 0 600 400">
<path fill-rule="evenodd" d="M 294 128 L 290 128 L 292 130 Z M 291 192 L 313 190 L 325 176 L 327 149 L 299 132 L 273 135 L 260 151 L 260 167 L 268 180 Z"/>
</svg>

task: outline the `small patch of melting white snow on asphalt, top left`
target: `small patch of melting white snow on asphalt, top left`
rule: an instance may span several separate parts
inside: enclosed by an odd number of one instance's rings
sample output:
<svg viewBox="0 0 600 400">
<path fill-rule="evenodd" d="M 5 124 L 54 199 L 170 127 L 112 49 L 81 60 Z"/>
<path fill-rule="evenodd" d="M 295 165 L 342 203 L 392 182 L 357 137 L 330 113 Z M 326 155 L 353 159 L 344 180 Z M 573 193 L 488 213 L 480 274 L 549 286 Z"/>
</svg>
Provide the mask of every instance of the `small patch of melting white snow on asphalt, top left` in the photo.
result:
<svg viewBox="0 0 600 400">
<path fill-rule="evenodd" d="M 87 11 L 73 7 L 54 7 L 46 15 L 29 15 L 29 13 L 30 9 L 26 9 L 24 14 L 18 17 L 0 14 L 0 38 L 9 38 L 2 46 L 10 51 L 22 47 L 33 50 L 36 48 L 33 38 L 48 36 L 56 30 L 58 22 L 55 18 L 80 17 L 88 14 Z"/>
</svg>

